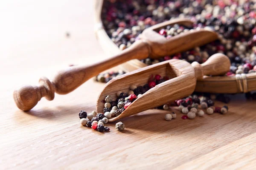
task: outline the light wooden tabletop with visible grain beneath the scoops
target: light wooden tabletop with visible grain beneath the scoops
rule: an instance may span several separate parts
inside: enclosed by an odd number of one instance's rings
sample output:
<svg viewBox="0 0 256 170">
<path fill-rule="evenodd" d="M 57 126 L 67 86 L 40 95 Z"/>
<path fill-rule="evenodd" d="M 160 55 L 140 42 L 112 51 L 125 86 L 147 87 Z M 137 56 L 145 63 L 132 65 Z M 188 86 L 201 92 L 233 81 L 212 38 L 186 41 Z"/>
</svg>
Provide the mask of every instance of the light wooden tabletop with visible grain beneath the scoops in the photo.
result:
<svg viewBox="0 0 256 170">
<path fill-rule="evenodd" d="M 98 133 L 79 123 L 104 86 L 89 80 L 23 113 L 15 88 L 105 57 L 93 34 L 93 2 L 9 0 L 0 17 L 0 169 L 255 169 L 256 105 L 243 95 L 232 97 L 227 115 L 183 120 L 177 112 L 167 122 L 149 111 L 122 119 L 123 132 L 109 124 L 111 132 Z"/>
</svg>

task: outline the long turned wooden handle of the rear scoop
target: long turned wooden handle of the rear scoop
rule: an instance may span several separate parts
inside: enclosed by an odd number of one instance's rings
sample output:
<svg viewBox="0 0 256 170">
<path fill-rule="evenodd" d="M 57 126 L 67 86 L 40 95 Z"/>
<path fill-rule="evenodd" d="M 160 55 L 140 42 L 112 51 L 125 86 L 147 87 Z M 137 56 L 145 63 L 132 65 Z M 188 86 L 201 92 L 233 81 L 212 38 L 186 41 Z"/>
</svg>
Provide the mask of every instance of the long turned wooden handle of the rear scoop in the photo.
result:
<svg viewBox="0 0 256 170">
<path fill-rule="evenodd" d="M 116 56 L 89 66 L 73 66 L 59 71 L 52 81 L 46 77 L 39 80 L 39 86 L 25 85 L 13 93 L 17 107 L 29 111 L 42 97 L 54 99 L 54 94 L 68 94 L 88 79 L 131 59 L 144 59 L 150 54 L 150 47 L 142 40 L 134 42 L 131 47 Z"/>
</svg>

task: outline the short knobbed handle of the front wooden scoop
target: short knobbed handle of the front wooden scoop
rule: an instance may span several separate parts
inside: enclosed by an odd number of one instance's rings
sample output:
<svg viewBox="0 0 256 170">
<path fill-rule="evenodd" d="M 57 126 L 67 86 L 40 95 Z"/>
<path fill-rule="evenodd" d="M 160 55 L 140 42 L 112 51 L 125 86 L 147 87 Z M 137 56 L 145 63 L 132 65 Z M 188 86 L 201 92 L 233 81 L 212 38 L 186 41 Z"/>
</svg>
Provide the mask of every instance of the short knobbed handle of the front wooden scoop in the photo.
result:
<svg viewBox="0 0 256 170">
<path fill-rule="evenodd" d="M 199 64 L 192 62 L 191 64 L 195 70 L 195 77 L 198 80 L 207 76 L 221 76 L 230 71 L 230 59 L 221 53 L 213 54 L 206 62 Z"/>
</svg>

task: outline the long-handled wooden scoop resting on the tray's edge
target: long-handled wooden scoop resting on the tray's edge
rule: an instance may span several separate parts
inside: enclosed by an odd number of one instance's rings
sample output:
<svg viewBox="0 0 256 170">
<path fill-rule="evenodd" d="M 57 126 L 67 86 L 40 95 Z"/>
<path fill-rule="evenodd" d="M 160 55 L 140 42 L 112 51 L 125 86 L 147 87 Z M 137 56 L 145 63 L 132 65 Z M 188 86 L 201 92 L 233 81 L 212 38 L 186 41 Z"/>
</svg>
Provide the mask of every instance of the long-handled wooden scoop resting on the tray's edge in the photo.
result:
<svg viewBox="0 0 256 170">
<path fill-rule="evenodd" d="M 180 24 L 192 26 L 186 19 L 170 20 L 157 24 L 143 31 L 141 40 L 134 42 L 129 48 L 116 56 L 93 65 L 73 66 L 59 71 L 52 81 L 46 77 L 39 80 L 39 86 L 26 85 L 15 90 L 13 98 L 17 107 L 23 111 L 32 109 L 42 97 L 54 99 L 54 94 L 68 94 L 88 79 L 131 59 L 158 58 L 204 45 L 218 38 L 218 34 L 204 29 L 189 31 L 166 39 L 156 31 L 164 26 Z M 156 30 L 156 31 L 154 31 Z"/>
</svg>

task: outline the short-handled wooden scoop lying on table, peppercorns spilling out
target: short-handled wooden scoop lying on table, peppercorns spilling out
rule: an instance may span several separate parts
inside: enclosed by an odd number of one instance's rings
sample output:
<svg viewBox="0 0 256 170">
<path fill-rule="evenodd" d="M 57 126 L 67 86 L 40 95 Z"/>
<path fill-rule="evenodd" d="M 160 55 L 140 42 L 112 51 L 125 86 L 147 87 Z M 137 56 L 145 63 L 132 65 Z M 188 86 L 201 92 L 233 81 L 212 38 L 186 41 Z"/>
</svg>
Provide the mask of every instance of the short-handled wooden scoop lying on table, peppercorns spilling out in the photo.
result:
<svg viewBox="0 0 256 170">
<path fill-rule="evenodd" d="M 107 95 L 116 99 L 117 91 L 127 93 L 131 85 L 144 85 L 148 83 L 148 78 L 151 74 L 160 74 L 170 79 L 148 90 L 145 94 L 137 98 L 119 116 L 109 119 L 109 122 L 189 96 L 195 90 L 197 79 L 203 79 L 204 75 L 223 75 L 229 70 L 230 59 L 224 54 L 214 54 L 201 65 L 198 62 L 193 62 L 190 65 L 188 62 L 178 59 L 171 59 L 150 65 L 124 74 L 108 82 L 98 97 L 97 113 L 103 112 L 104 103 L 102 100 L 104 100 Z"/>
</svg>

